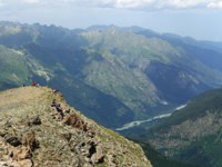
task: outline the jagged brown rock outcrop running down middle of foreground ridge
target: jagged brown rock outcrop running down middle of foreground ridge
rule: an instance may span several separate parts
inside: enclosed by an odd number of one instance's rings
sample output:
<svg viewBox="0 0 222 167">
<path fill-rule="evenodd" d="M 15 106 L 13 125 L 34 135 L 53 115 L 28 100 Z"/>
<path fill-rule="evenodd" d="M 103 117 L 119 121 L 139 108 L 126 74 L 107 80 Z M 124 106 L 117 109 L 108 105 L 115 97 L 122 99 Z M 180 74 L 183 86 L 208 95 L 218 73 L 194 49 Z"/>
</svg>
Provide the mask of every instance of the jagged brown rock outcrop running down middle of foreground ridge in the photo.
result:
<svg viewBox="0 0 222 167">
<path fill-rule="evenodd" d="M 72 134 L 63 135 L 71 151 L 84 156 L 84 160 L 91 165 L 104 161 L 102 143 L 95 138 L 95 131 L 88 126 L 88 122 L 70 108 L 65 108 L 57 102 L 56 99 L 52 100 L 51 110 L 52 119 L 79 130 L 75 137 Z"/>
</svg>

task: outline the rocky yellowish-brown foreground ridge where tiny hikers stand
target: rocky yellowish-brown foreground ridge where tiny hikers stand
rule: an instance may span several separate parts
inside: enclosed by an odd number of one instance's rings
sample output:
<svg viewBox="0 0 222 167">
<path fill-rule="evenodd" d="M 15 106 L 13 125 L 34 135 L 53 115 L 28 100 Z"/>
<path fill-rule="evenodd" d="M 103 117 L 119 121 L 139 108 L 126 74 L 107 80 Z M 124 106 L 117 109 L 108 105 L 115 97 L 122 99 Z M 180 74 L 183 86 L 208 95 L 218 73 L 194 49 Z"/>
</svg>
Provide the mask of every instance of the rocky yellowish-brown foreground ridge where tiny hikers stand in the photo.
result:
<svg viewBox="0 0 222 167">
<path fill-rule="evenodd" d="M 151 166 L 139 145 L 85 118 L 59 91 L 24 87 L 0 99 L 0 166 Z"/>
</svg>

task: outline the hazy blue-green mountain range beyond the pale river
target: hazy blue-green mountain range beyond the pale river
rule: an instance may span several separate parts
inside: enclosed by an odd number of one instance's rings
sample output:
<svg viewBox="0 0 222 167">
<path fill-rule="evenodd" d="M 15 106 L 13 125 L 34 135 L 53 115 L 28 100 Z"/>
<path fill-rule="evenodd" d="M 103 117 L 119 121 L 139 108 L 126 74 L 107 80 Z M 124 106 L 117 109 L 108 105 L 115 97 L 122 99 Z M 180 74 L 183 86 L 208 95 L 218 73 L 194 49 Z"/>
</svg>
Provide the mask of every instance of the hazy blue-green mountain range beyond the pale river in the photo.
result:
<svg viewBox="0 0 222 167">
<path fill-rule="evenodd" d="M 60 89 L 88 117 L 120 127 L 221 86 L 221 48 L 190 40 L 137 27 L 0 22 L 0 63 L 7 66 L 0 89 L 34 79 Z"/>
</svg>

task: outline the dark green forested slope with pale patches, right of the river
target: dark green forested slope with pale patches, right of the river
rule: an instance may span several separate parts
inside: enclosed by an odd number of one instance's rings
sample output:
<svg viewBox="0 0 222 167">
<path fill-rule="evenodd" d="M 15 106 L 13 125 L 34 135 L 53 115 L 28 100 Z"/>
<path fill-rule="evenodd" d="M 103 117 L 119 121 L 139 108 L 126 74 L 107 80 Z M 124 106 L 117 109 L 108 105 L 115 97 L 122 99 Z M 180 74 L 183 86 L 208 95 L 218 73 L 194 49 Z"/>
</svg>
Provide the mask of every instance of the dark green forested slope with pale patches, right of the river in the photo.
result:
<svg viewBox="0 0 222 167">
<path fill-rule="evenodd" d="M 199 95 L 162 125 L 141 132 L 139 138 L 173 159 L 221 167 L 222 89 Z"/>
</svg>

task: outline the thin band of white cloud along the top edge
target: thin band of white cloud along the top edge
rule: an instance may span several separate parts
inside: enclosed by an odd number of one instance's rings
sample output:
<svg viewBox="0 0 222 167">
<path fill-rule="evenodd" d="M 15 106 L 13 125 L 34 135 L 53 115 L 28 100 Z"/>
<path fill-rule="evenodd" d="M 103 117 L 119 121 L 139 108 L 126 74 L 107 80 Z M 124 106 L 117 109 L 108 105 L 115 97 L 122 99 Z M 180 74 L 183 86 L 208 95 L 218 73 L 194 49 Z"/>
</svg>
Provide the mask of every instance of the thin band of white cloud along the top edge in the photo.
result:
<svg viewBox="0 0 222 167">
<path fill-rule="evenodd" d="M 69 4 L 98 8 L 121 9 L 193 9 L 193 8 L 222 8 L 222 0 L 0 0 L 3 3 L 29 4 Z"/>
</svg>

